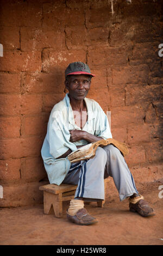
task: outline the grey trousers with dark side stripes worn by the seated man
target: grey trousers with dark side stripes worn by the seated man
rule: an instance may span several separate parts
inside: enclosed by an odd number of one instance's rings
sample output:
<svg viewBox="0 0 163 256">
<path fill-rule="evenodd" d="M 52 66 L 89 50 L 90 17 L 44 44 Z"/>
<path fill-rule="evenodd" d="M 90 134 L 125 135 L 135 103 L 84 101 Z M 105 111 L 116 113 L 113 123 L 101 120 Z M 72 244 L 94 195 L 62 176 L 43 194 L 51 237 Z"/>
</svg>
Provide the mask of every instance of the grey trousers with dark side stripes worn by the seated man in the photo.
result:
<svg viewBox="0 0 163 256">
<path fill-rule="evenodd" d="M 114 180 L 120 201 L 138 193 L 123 155 L 111 144 L 98 147 L 92 159 L 72 163 L 63 182 L 78 185 L 74 198 L 104 200 L 104 178 L 108 176 Z"/>
</svg>

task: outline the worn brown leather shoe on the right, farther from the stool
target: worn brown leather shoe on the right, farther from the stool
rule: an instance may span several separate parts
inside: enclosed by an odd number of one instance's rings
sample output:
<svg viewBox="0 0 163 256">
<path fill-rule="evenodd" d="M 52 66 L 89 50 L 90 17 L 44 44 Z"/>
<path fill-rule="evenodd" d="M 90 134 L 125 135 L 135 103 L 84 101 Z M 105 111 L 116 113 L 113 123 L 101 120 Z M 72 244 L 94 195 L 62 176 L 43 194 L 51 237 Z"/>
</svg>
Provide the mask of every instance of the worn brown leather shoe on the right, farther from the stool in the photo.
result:
<svg viewBox="0 0 163 256">
<path fill-rule="evenodd" d="M 129 203 L 129 209 L 143 217 L 155 215 L 154 210 L 148 205 L 148 202 L 143 199 L 139 200 L 136 204 Z"/>
</svg>

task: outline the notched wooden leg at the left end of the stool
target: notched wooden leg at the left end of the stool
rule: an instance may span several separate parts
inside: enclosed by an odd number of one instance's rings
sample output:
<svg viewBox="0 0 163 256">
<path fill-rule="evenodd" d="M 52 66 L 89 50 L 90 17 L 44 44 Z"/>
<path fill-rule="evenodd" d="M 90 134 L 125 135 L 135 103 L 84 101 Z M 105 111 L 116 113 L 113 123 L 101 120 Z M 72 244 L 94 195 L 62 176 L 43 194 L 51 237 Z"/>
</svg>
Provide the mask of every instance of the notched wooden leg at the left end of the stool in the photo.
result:
<svg viewBox="0 0 163 256">
<path fill-rule="evenodd" d="M 54 210 L 55 217 L 62 217 L 62 194 L 52 194 L 43 191 L 43 210 L 44 214 L 52 214 Z"/>
</svg>

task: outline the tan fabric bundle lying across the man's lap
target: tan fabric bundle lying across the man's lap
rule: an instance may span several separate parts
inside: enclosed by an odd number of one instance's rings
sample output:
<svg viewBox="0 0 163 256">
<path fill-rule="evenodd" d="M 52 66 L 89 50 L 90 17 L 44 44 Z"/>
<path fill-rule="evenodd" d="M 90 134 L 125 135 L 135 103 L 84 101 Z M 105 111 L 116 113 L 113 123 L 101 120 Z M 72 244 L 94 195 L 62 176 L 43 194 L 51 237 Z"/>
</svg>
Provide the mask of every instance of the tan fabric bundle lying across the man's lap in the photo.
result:
<svg viewBox="0 0 163 256">
<path fill-rule="evenodd" d="M 84 145 L 83 147 L 69 154 L 68 160 L 70 160 L 71 163 L 75 163 L 81 160 L 91 159 L 95 156 L 97 147 L 104 147 L 109 144 L 112 144 L 118 148 L 123 156 L 126 156 L 129 153 L 128 147 L 125 143 L 118 142 L 116 139 L 109 138 L 101 139 L 100 141 Z"/>
</svg>

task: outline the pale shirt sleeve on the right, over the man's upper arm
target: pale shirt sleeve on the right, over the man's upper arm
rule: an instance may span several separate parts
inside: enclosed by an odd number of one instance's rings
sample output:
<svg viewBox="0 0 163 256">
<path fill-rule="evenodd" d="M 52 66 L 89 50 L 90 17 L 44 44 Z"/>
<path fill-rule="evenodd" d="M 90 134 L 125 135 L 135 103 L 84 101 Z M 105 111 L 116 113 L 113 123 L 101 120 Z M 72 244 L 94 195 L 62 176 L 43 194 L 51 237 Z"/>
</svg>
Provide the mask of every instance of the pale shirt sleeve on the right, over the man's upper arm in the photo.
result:
<svg viewBox="0 0 163 256">
<path fill-rule="evenodd" d="M 103 139 L 112 138 L 108 117 L 99 104 L 96 112 L 95 136 L 102 137 Z"/>
</svg>

